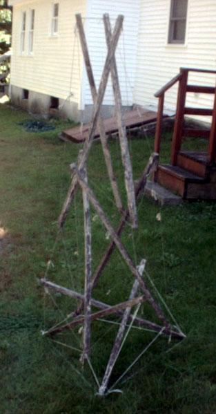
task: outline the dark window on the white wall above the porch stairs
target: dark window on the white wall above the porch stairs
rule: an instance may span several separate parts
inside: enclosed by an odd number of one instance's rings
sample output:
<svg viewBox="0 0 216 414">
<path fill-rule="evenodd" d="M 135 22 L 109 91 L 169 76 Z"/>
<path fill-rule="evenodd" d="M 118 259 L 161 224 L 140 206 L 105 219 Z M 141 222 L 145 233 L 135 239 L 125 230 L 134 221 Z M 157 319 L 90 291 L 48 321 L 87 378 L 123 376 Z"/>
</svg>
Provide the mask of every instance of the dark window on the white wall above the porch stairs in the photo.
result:
<svg viewBox="0 0 216 414">
<path fill-rule="evenodd" d="M 188 0 L 171 0 L 168 43 L 184 44 Z"/>
</svg>

